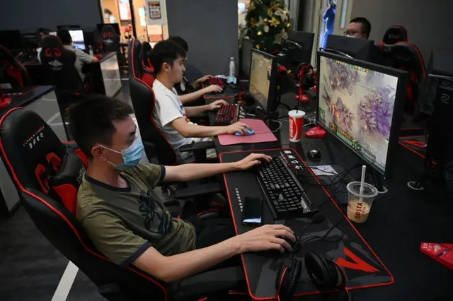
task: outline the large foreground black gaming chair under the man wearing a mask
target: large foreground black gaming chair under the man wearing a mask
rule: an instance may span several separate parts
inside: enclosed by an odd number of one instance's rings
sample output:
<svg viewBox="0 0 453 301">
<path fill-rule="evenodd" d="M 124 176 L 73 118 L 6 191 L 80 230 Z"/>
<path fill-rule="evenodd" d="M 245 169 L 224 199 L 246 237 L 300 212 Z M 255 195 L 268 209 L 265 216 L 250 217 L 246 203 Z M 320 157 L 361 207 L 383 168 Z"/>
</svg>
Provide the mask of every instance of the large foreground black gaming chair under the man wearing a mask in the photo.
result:
<svg viewBox="0 0 453 301">
<path fill-rule="evenodd" d="M 76 146 L 59 141 L 33 111 L 16 108 L 0 119 L 0 155 L 23 206 L 47 240 L 98 286 L 103 297 L 113 301 L 197 300 L 212 293 L 228 295 L 228 290 L 243 287 L 245 279 L 240 267 L 201 273 L 170 290 L 134 266 L 120 268 L 113 264 L 93 247 L 74 213 L 42 189 L 38 167 L 47 165 L 50 154 L 62 158 L 69 149 L 77 151 Z"/>
</svg>

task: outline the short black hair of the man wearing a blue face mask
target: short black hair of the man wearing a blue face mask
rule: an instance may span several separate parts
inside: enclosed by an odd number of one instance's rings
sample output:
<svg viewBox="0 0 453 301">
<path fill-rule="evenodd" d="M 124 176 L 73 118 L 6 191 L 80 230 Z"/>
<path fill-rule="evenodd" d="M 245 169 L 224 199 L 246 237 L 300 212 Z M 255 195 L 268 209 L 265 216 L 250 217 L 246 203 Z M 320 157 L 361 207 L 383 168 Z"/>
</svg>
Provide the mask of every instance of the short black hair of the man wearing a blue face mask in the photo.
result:
<svg viewBox="0 0 453 301">
<path fill-rule="evenodd" d="M 77 145 L 92 159 L 96 143 L 110 146 L 115 134 L 114 120 L 124 120 L 134 110 L 127 103 L 105 95 L 88 95 L 69 107 L 69 131 Z"/>
</svg>

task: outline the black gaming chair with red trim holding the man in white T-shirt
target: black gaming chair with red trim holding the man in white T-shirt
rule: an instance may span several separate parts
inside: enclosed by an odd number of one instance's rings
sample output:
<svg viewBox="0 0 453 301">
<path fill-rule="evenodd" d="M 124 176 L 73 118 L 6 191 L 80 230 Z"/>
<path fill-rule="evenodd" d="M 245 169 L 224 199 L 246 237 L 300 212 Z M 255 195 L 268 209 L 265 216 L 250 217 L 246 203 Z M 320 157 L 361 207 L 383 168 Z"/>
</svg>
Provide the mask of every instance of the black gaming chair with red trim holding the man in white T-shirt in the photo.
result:
<svg viewBox="0 0 453 301">
<path fill-rule="evenodd" d="M 154 123 L 154 105 L 155 98 L 151 89 L 151 83 L 147 83 L 143 77 L 142 61 L 139 58 L 140 42 L 132 38 L 129 44 L 129 85 L 130 97 L 135 111 L 135 117 L 139 125 L 140 134 L 145 144 L 145 152 L 149 160 L 157 158 L 159 164 L 176 165 L 178 156 L 173 146 L 168 142 L 166 136 L 159 130 Z M 188 146 L 182 146 L 181 152 L 192 151 L 195 156 L 195 162 L 206 161 L 206 149 L 213 148 L 214 142 L 192 143 Z"/>
</svg>

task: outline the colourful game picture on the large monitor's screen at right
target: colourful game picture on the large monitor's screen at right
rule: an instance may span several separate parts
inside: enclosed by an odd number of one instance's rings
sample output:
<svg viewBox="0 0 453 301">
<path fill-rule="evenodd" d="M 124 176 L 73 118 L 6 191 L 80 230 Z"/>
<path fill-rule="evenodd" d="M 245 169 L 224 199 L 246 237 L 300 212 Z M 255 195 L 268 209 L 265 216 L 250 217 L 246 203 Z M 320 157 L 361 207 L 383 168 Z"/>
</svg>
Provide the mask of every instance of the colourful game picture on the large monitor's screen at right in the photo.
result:
<svg viewBox="0 0 453 301">
<path fill-rule="evenodd" d="M 320 57 L 318 122 L 384 172 L 398 78 Z"/>
</svg>

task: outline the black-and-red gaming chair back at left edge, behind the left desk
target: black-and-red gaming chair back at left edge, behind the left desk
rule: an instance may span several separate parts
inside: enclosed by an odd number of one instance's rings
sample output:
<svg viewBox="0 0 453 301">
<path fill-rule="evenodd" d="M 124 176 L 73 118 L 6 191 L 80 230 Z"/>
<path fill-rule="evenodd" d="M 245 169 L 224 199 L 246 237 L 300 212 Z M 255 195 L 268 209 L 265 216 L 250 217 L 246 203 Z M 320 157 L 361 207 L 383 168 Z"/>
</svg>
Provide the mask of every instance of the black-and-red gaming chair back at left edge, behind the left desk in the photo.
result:
<svg viewBox="0 0 453 301">
<path fill-rule="evenodd" d="M 11 83 L 13 88 L 30 85 L 27 69 L 2 45 L 0 45 L 0 81 Z"/>
</svg>

